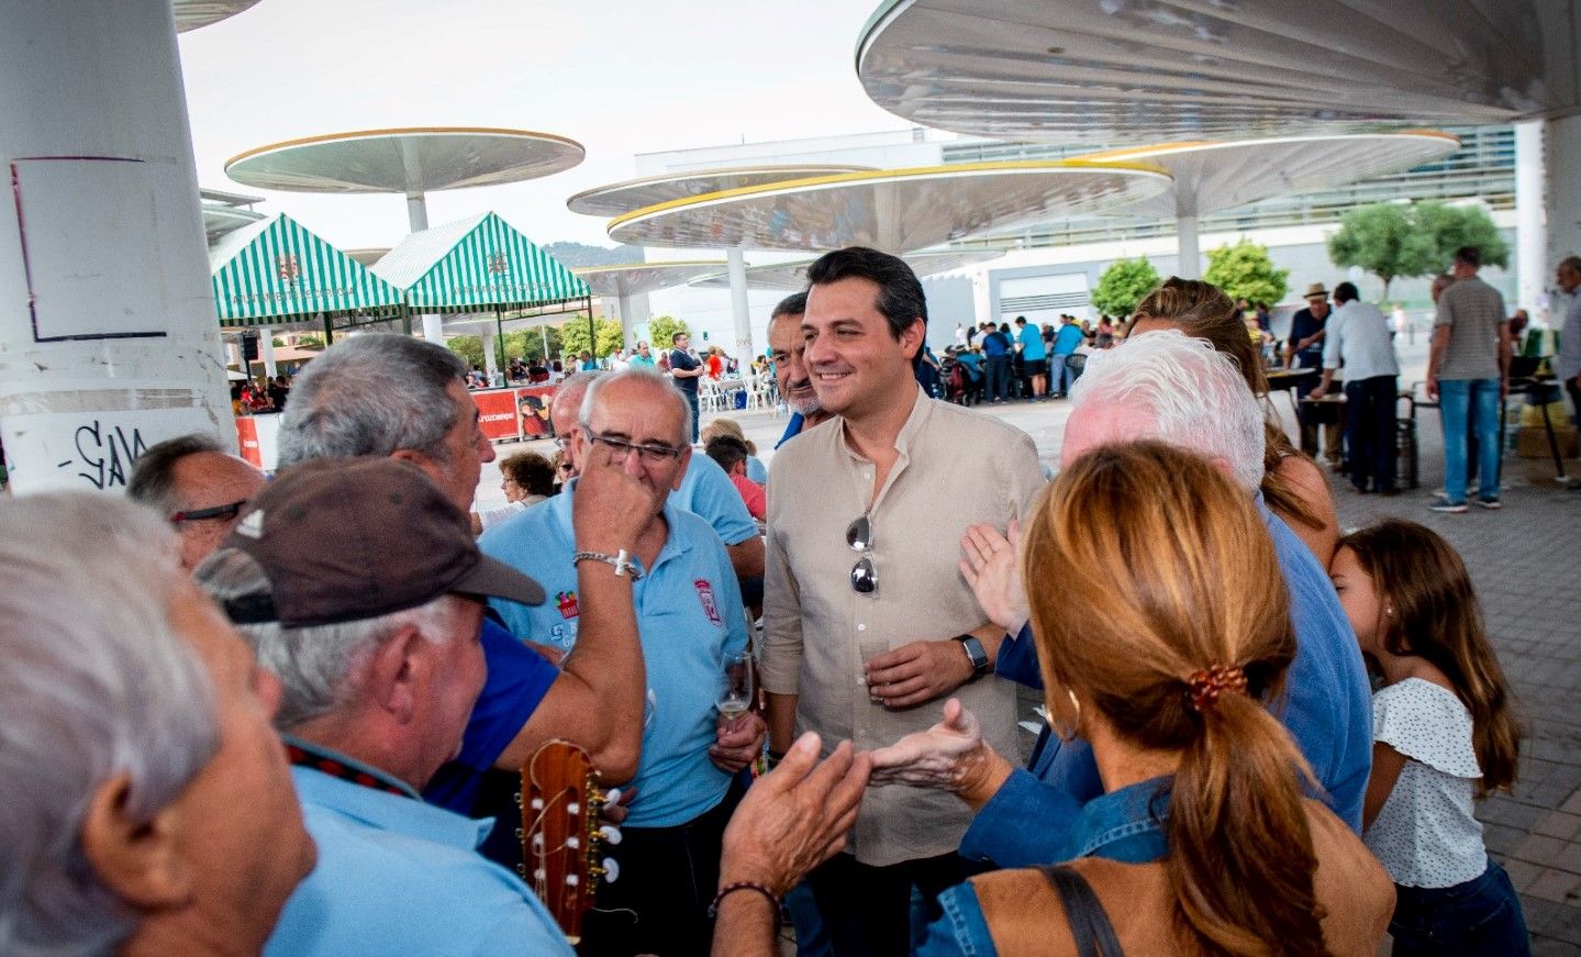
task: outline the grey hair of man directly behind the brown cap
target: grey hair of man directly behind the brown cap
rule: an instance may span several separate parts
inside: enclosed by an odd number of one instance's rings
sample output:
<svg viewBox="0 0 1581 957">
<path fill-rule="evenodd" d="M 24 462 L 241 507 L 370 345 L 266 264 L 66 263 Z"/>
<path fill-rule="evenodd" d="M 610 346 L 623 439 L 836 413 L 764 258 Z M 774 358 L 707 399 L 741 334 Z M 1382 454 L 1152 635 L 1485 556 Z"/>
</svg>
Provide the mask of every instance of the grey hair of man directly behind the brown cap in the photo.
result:
<svg viewBox="0 0 1581 957">
<path fill-rule="evenodd" d="M 409 335 L 346 339 L 307 364 L 280 416 L 280 468 L 313 459 L 422 452 L 449 456 L 455 426 L 451 383 L 465 383 L 466 362 L 451 350 Z"/>
</svg>

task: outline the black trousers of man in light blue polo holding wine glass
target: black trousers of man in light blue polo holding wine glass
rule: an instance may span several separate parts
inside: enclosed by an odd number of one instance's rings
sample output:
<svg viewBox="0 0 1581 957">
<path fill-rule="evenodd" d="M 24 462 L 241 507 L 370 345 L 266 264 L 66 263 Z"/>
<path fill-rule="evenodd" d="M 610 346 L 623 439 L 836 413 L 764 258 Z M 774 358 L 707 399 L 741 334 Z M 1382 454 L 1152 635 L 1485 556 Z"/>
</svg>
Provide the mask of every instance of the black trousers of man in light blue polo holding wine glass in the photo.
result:
<svg viewBox="0 0 1581 957">
<path fill-rule="evenodd" d="M 620 845 L 604 856 L 620 864 L 620 879 L 601 884 L 582 919 L 583 957 L 707 955 L 713 946 L 708 905 L 719 889 L 724 826 L 740 804 L 741 778 L 711 811 L 675 827 L 621 827 Z"/>
</svg>

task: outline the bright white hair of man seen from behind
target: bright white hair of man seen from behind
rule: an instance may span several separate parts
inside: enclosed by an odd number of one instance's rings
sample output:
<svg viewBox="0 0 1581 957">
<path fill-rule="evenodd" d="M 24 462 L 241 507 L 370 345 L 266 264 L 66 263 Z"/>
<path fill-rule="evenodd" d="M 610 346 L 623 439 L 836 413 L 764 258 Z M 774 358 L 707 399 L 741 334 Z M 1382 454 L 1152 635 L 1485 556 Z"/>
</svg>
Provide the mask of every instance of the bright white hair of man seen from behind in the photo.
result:
<svg viewBox="0 0 1581 957">
<path fill-rule="evenodd" d="M 1265 414 L 1235 359 L 1178 329 L 1143 332 L 1088 357 L 1070 388 L 1072 413 L 1085 405 L 1146 410 L 1153 438 L 1224 459 L 1235 481 L 1263 481 Z"/>
</svg>

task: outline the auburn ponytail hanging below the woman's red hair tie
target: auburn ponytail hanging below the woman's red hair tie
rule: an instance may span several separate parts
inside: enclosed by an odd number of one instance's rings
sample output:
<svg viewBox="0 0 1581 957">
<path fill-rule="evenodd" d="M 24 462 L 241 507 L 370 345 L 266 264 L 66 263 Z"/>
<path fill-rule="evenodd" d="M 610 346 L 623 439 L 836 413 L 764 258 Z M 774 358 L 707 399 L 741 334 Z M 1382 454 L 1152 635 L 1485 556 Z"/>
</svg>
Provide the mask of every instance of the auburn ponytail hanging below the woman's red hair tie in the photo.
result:
<svg viewBox="0 0 1581 957">
<path fill-rule="evenodd" d="M 1317 856 L 1292 774 L 1306 761 L 1246 694 L 1222 694 L 1197 720 L 1202 732 L 1175 772 L 1167 832 L 1181 951 L 1326 955 Z"/>
</svg>

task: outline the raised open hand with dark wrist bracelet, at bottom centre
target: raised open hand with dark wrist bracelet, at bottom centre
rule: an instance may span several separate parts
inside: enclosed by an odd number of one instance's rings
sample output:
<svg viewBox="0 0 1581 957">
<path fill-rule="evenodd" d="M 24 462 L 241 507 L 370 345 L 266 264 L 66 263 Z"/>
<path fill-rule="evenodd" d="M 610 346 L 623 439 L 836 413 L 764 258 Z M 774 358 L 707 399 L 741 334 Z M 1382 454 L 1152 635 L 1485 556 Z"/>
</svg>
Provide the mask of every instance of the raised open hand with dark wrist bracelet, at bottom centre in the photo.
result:
<svg viewBox="0 0 1581 957">
<path fill-rule="evenodd" d="M 819 764 L 819 743 L 817 734 L 803 734 L 779 767 L 746 791 L 724 829 L 721 887 L 754 881 L 784 897 L 846 846 L 871 766 L 866 755 L 852 755 L 851 742 Z"/>
</svg>

